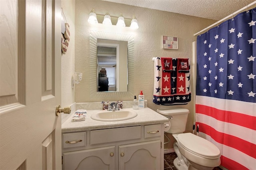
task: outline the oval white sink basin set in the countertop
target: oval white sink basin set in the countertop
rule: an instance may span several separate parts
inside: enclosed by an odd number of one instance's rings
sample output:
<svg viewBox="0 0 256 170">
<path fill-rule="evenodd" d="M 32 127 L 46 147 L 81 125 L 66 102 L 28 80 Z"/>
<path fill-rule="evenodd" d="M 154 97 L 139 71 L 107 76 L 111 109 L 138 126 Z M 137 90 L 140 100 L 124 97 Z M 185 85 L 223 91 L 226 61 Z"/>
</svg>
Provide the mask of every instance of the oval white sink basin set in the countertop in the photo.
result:
<svg viewBox="0 0 256 170">
<path fill-rule="evenodd" d="M 124 121 L 137 116 L 135 111 L 101 111 L 91 116 L 96 121 Z"/>
</svg>

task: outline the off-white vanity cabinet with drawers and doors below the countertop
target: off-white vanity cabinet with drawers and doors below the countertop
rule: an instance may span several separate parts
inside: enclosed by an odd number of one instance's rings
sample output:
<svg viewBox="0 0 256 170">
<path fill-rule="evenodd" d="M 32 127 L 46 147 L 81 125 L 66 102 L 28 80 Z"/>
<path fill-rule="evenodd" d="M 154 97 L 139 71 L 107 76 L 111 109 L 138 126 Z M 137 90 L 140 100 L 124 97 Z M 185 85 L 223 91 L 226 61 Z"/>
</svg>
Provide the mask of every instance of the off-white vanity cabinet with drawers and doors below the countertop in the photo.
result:
<svg viewBox="0 0 256 170">
<path fill-rule="evenodd" d="M 163 128 L 157 124 L 63 133 L 63 170 L 162 170 Z M 74 142 L 67 147 L 66 141 Z"/>
</svg>

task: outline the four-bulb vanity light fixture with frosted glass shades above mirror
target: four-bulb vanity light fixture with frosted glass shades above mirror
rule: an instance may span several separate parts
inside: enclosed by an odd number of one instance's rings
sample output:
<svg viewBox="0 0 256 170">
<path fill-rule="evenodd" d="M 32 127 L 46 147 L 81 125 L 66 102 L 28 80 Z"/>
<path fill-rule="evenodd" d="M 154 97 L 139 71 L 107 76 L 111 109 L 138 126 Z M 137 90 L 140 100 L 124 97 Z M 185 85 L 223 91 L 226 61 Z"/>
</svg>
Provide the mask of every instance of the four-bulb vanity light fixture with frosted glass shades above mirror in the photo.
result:
<svg viewBox="0 0 256 170">
<path fill-rule="evenodd" d="M 98 23 L 97 16 L 99 17 L 99 20 L 104 16 L 104 20 L 102 22 L 103 25 L 112 25 L 112 21 L 114 21 L 114 25 L 118 27 L 126 27 L 126 24 L 130 22 L 130 26 L 127 26 L 127 27 L 130 27 L 133 30 L 137 30 L 139 28 L 138 21 L 135 15 L 132 16 L 132 19 L 129 19 L 129 18 L 124 18 L 122 13 L 120 14 L 119 17 L 116 17 L 116 16 L 110 16 L 108 12 L 105 15 L 96 14 L 94 9 L 92 9 L 88 18 L 88 22 L 90 24 L 97 24 Z M 115 19 L 111 21 L 111 18 L 115 18 Z M 117 20 L 117 23 L 116 23 L 116 20 Z M 101 21 L 102 20 L 100 20 L 100 22 Z"/>
</svg>

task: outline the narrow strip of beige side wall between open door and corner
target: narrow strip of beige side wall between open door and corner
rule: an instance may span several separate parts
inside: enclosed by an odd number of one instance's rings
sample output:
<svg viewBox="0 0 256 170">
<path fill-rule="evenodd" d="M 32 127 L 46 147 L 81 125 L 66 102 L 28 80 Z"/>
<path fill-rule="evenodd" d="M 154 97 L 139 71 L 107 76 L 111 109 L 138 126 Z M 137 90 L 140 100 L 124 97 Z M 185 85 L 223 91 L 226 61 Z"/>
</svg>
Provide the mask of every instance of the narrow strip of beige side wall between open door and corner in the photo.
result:
<svg viewBox="0 0 256 170">
<path fill-rule="evenodd" d="M 70 41 L 66 54 L 61 57 L 61 106 L 70 106 L 75 102 L 74 89 L 71 88 L 71 78 L 75 72 L 75 2 L 73 0 L 62 0 L 61 7 L 65 14 L 64 21 L 70 27 Z"/>
</svg>

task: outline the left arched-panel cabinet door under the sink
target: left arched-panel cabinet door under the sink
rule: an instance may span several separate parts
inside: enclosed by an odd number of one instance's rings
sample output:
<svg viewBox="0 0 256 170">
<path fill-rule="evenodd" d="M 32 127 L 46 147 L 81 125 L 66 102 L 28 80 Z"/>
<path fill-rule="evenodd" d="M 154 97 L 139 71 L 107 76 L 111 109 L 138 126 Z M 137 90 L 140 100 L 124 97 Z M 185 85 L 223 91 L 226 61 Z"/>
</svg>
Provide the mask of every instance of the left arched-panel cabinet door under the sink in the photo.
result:
<svg viewBox="0 0 256 170">
<path fill-rule="evenodd" d="M 115 146 L 63 153 L 64 170 L 114 170 Z"/>
</svg>

